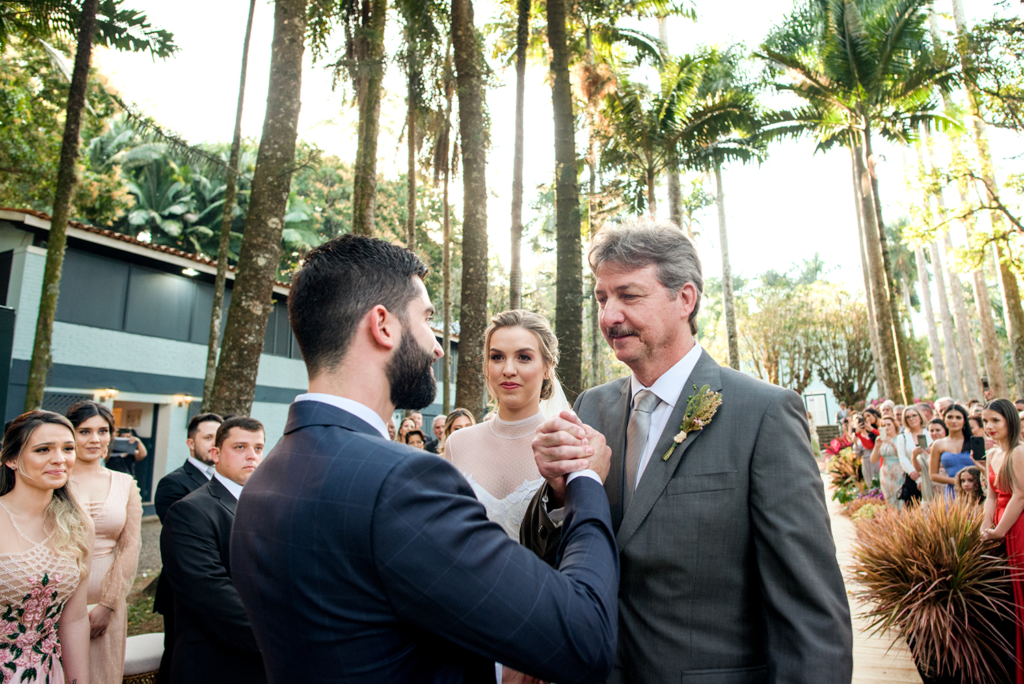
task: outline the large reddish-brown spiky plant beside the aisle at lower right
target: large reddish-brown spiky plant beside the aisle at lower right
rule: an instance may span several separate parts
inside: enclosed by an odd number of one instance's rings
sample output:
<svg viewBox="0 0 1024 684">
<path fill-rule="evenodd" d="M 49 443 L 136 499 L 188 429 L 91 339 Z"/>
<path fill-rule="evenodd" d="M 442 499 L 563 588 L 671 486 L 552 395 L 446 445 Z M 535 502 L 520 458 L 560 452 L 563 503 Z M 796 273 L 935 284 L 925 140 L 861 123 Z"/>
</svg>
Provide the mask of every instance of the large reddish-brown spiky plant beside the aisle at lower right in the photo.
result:
<svg viewBox="0 0 1024 684">
<path fill-rule="evenodd" d="M 998 627 L 1016 619 L 1014 570 L 981 542 L 981 506 L 940 500 L 857 525 L 851 569 L 869 629 L 903 636 L 925 676 L 1004 681 L 1014 657 Z"/>
</svg>

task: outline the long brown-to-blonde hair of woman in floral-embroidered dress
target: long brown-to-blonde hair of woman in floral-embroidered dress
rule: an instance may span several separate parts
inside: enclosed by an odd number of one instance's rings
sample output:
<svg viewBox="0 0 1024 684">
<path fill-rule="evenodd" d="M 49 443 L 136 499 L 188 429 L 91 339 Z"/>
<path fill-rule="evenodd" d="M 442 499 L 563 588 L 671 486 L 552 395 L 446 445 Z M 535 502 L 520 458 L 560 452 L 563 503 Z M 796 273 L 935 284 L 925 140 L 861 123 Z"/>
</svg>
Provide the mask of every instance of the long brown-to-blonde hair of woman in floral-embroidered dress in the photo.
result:
<svg viewBox="0 0 1024 684">
<path fill-rule="evenodd" d="M 17 462 L 17 472 L 25 473 L 18 457 L 28 446 L 32 434 L 42 425 L 66 427 L 74 438 L 75 428 L 72 427 L 71 421 L 50 411 L 30 411 L 11 421 L 3 436 L 3 447 L 0 448 L 0 497 L 13 489 L 17 481 L 15 469 L 7 464 Z M 53 490 L 53 499 L 50 500 L 43 515 L 47 526 L 53 528 L 51 538 L 53 551 L 74 559 L 84 581 L 89 573 L 85 558 L 89 554 L 92 520 L 71 490 L 70 471 L 63 485 Z"/>
</svg>

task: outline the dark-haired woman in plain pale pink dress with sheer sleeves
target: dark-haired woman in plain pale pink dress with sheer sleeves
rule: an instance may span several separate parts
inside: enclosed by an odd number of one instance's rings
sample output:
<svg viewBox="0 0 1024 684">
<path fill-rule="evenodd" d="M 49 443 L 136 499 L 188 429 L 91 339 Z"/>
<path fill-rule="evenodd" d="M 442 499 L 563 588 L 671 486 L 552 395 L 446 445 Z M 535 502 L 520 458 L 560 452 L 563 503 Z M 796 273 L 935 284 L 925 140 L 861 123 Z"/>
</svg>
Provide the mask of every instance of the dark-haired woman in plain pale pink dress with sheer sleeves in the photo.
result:
<svg viewBox="0 0 1024 684">
<path fill-rule="evenodd" d="M 79 401 L 68 420 L 78 447 L 72 482 L 96 530 L 89 571 L 89 679 L 117 684 L 124 673 L 127 598 L 138 564 L 142 500 L 131 475 L 103 465 L 114 434 L 111 410 Z"/>
</svg>

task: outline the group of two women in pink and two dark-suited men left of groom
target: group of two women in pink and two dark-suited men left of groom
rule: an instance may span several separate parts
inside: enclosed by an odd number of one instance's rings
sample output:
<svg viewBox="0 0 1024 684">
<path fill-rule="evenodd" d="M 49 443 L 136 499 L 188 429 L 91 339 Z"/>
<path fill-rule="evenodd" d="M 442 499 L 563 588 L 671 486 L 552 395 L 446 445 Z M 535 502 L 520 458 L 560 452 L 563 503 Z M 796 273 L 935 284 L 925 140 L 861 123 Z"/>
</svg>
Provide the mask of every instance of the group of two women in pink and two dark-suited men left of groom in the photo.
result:
<svg viewBox="0 0 1024 684">
<path fill-rule="evenodd" d="M 115 434 L 113 413 L 96 401 L 80 401 L 67 416 L 26 413 L 4 433 L 4 683 L 122 681 L 142 504 L 135 479 L 111 464 Z M 263 441 L 263 426 L 251 418 L 197 416 L 186 463 L 157 487 L 164 571 L 156 609 L 165 618 L 158 681 L 261 681 L 227 559 L 234 503 L 262 460 Z"/>
</svg>

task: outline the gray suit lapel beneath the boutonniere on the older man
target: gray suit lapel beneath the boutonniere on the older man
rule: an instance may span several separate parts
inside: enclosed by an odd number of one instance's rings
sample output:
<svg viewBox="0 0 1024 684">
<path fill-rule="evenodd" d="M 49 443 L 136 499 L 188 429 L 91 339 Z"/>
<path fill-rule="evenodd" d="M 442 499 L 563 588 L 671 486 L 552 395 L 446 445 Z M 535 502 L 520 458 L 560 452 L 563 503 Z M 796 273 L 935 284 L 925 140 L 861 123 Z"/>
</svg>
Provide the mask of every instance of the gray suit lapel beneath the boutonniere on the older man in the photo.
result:
<svg viewBox="0 0 1024 684">
<path fill-rule="evenodd" d="M 626 547 L 637 528 L 640 527 L 640 523 L 644 521 L 651 508 L 654 507 L 654 503 L 662 497 L 662 493 L 669 480 L 672 479 L 676 468 L 682 463 L 683 456 L 702 434 L 701 432 L 690 434 L 682 444 L 673 450 L 668 462 L 662 460 L 665 453 L 674 443 L 673 438 L 679 433 L 679 426 L 682 425 L 683 417 L 686 415 L 686 402 L 695 391 L 694 385 L 697 389 L 710 385 L 712 391 L 716 392 L 722 389 L 721 368 L 708 355 L 707 351 L 700 352 L 700 358 L 697 359 L 697 365 L 690 373 L 690 377 L 687 378 L 686 385 L 684 385 L 683 391 L 672 410 L 672 416 L 669 417 L 669 422 L 657 440 L 657 445 L 651 453 L 650 461 L 640 476 L 640 483 L 637 485 L 636 491 L 633 493 L 630 510 L 626 511 L 626 515 L 623 516 L 623 522 L 615 536 L 615 542 L 618 543 L 620 549 Z M 623 460 L 625 461 L 625 459 Z"/>
</svg>

